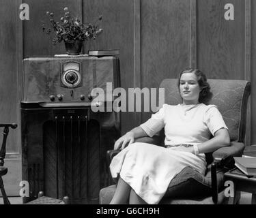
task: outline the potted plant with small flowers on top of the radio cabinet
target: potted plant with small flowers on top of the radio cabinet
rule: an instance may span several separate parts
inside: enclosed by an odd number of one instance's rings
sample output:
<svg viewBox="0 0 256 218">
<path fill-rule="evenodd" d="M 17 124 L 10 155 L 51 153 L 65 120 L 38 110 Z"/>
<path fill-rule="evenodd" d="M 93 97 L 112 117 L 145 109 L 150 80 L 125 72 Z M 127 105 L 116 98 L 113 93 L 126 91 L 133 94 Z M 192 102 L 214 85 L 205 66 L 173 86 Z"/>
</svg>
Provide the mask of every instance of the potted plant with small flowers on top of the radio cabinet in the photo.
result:
<svg viewBox="0 0 256 218">
<path fill-rule="evenodd" d="M 85 24 L 79 18 L 74 19 L 70 15 L 68 7 L 64 7 L 63 11 L 65 16 L 61 17 L 59 21 L 55 21 L 53 12 L 46 12 L 50 27 L 46 27 L 46 23 L 42 22 L 42 31 L 50 37 L 51 33 L 54 32 L 53 45 L 63 41 L 68 55 L 79 55 L 83 42 L 91 39 L 95 40 L 102 33 L 103 29 L 100 29 L 98 24 L 102 20 L 102 16 L 99 16 L 98 21 L 94 24 Z"/>
</svg>

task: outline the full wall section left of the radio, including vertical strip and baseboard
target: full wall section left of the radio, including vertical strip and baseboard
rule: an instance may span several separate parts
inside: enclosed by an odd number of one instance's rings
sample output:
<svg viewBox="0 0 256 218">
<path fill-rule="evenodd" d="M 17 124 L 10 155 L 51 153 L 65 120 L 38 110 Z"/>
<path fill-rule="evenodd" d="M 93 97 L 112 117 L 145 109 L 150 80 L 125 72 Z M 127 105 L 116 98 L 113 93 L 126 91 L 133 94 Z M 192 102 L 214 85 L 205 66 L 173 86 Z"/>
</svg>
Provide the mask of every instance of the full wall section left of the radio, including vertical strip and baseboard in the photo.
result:
<svg viewBox="0 0 256 218">
<path fill-rule="evenodd" d="M 18 110 L 18 66 L 20 39 L 18 30 L 18 1 L 1 1 L 0 7 L 0 123 L 18 123 L 17 129 L 10 129 L 7 138 L 5 167 L 8 174 L 3 176 L 3 183 L 8 196 L 18 195 L 21 181 L 20 159 L 20 121 Z M 3 128 L 0 143 L 3 140 Z M 1 146 L 1 144 L 0 144 Z M 11 172 L 11 173 L 10 173 Z M 1 196 L 1 192 L 0 192 Z"/>
</svg>

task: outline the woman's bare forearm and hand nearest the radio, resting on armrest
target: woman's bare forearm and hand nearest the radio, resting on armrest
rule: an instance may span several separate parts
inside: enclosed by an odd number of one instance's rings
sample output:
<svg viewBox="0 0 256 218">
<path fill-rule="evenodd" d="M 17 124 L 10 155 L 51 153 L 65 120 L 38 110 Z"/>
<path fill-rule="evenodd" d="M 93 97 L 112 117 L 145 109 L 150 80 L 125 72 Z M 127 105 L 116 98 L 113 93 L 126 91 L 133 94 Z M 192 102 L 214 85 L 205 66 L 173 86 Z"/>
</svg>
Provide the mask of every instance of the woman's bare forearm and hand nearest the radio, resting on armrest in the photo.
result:
<svg viewBox="0 0 256 218">
<path fill-rule="evenodd" d="M 144 136 L 147 136 L 145 131 L 140 126 L 135 127 L 115 142 L 114 149 L 117 150 L 121 148 L 121 150 L 123 150 L 126 147 L 126 144 L 132 144 L 135 138 L 141 138 Z"/>
</svg>

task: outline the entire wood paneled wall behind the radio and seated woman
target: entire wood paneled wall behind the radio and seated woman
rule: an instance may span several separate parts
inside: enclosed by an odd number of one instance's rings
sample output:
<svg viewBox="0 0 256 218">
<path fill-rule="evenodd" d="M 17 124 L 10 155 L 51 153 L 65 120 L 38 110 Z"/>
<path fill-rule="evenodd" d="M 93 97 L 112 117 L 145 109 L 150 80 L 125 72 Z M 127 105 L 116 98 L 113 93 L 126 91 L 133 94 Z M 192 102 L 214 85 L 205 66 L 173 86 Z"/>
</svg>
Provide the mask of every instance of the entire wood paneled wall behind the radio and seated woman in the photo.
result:
<svg viewBox="0 0 256 218">
<path fill-rule="evenodd" d="M 208 78 L 251 80 L 251 142 L 256 143 L 255 83 L 256 3 L 251 0 L 3 0 L 1 7 L 0 121 L 19 121 L 21 60 L 65 52 L 42 34 L 46 11 L 62 15 L 64 6 L 83 21 L 103 15 L 104 33 L 88 49 L 118 48 L 121 86 L 158 87 L 184 67 L 199 67 Z M 18 18 L 20 3 L 29 4 L 30 20 Z M 232 3 L 235 20 L 225 20 L 224 5 Z M 7 16 L 8 15 L 8 16 Z M 18 84 L 17 84 L 18 83 Z M 122 113 L 122 133 L 139 125 L 149 113 Z M 12 134 L 12 133 L 11 133 Z M 8 152 L 20 151 L 20 138 L 8 142 Z M 248 138 L 248 140 L 250 140 Z M 248 143 L 250 143 L 248 141 Z"/>
</svg>

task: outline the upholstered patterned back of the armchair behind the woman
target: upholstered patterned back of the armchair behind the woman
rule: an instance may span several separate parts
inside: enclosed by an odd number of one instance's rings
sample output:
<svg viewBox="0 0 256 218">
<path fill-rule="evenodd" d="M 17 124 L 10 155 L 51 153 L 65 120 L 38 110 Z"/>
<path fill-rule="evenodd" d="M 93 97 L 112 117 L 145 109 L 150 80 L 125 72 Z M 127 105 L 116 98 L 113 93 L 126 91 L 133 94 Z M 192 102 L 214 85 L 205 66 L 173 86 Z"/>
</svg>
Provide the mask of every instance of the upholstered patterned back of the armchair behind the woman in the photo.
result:
<svg viewBox="0 0 256 218">
<path fill-rule="evenodd" d="M 177 79 L 162 80 L 160 88 L 165 88 L 165 104 L 182 103 Z M 246 80 L 216 80 L 208 79 L 212 99 L 208 104 L 214 104 L 223 115 L 229 128 L 231 141 L 244 142 L 246 131 L 246 113 L 248 97 L 251 94 L 251 82 Z"/>
</svg>

